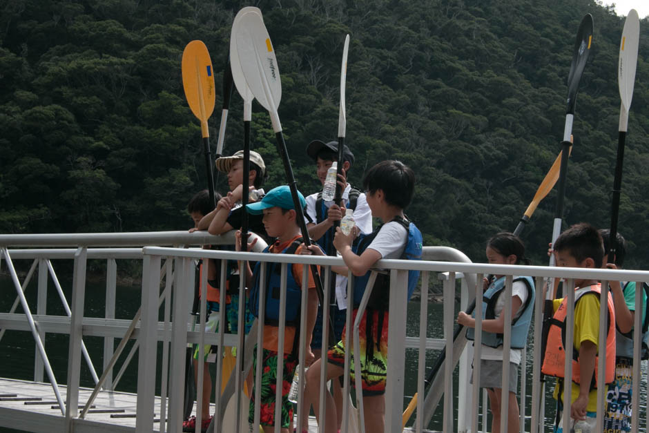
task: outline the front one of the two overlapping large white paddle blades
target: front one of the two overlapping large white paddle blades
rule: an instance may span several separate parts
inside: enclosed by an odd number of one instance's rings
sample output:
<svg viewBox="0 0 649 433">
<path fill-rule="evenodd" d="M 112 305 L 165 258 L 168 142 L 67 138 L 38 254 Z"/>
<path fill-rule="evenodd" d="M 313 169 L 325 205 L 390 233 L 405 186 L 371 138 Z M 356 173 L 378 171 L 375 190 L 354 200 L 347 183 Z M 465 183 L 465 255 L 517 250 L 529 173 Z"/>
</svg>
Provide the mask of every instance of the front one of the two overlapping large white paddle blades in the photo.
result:
<svg viewBox="0 0 649 433">
<path fill-rule="evenodd" d="M 233 32 L 246 83 L 264 108 L 271 114 L 277 113 L 282 99 L 282 82 L 275 50 L 262 17 L 256 12 L 246 12 Z"/>
</svg>

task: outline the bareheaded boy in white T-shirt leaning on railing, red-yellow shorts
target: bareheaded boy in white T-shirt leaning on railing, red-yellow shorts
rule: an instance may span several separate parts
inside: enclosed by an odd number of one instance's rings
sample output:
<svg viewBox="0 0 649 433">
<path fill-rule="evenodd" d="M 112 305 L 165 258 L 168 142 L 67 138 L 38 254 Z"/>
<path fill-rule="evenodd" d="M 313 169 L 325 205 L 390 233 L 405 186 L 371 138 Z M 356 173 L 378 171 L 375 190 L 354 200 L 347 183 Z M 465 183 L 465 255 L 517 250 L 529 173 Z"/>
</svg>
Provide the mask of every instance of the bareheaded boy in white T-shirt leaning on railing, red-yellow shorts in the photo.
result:
<svg viewBox="0 0 649 433">
<path fill-rule="evenodd" d="M 347 275 L 348 270 L 355 277 L 354 282 L 354 311 L 356 318 L 358 305 L 365 293 L 365 286 L 370 274 L 370 268 L 382 258 L 417 258 L 421 256 L 421 233 L 409 223 L 403 210 L 408 206 L 414 192 L 414 173 L 409 167 L 399 161 L 383 161 L 369 169 L 363 186 L 367 204 L 373 216 L 384 223 L 370 235 L 367 235 L 352 249 L 352 242 L 358 228 L 345 235 L 336 229 L 333 245 L 336 247 L 347 267 L 334 269 Z M 311 253 L 322 254 L 320 249 L 311 248 Z M 416 274 L 416 275 L 415 275 Z M 414 289 L 418 273 L 409 275 L 408 294 Z M 388 334 L 388 305 L 389 305 L 389 275 L 380 273 L 374 282 L 367 309 L 363 312 L 360 323 L 360 347 L 362 353 L 358 356 L 361 363 L 362 403 L 365 407 L 365 430 L 381 433 L 385 429 L 385 378 L 387 375 L 387 334 Z M 345 352 L 351 353 L 351 348 L 345 347 L 345 333 L 342 340 L 327 353 L 327 379 L 338 378 L 345 373 Z M 308 401 L 313 402 L 318 422 L 322 423 L 320 414 L 320 384 L 321 360 L 313 363 L 307 372 L 307 387 L 304 390 Z M 327 422 L 324 431 L 336 433 L 337 413 L 333 398 L 328 391 L 324 392 L 327 407 Z"/>
</svg>

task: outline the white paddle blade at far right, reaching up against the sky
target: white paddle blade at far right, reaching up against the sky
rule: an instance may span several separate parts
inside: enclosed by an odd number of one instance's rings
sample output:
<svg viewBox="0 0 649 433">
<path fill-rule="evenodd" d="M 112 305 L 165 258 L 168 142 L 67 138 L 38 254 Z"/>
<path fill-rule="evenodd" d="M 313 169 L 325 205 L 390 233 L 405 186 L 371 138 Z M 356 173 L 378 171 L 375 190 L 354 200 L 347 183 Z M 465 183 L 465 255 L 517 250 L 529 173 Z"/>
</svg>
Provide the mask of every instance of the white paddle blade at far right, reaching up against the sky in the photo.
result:
<svg viewBox="0 0 649 433">
<path fill-rule="evenodd" d="M 640 19 L 635 9 L 629 11 L 624 21 L 622 40 L 620 41 L 620 59 L 617 69 L 617 81 L 620 86 L 622 105 L 628 112 L 633 97 L 635 69 L 638 64 L 638 45 L 640 39 Z"/>
</svg>

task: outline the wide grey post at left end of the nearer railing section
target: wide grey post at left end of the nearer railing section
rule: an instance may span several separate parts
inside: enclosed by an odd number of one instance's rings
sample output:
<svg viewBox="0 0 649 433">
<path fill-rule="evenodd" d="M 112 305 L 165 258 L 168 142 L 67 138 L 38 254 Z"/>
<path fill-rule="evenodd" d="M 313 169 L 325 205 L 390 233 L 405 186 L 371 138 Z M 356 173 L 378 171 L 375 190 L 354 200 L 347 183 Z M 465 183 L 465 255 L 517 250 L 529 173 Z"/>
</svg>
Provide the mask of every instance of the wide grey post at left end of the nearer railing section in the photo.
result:
<svg viewBox="0 0 649 433">
<path fill-rule="evenodd" d="M 135 421 L 135 432 L 137 433 L 148 433 L 153 430 L 160 264 L 160 256 L 144 256 L 142 316 L 140 316 L 139 354 L 137 360 L 137 418 Z"/>
</svg>

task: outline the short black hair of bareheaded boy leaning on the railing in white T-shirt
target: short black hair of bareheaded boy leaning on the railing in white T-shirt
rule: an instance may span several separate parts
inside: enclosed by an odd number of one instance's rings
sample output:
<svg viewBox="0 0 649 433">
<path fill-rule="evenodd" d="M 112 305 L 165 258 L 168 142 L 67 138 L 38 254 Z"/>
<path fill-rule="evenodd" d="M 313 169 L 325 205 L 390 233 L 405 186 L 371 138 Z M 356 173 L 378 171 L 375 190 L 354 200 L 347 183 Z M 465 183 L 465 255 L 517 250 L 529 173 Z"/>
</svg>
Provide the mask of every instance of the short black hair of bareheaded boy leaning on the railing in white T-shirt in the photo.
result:
<svg viewBox="0 0 649 433">
<path fill-rule="evenodd" d="M 403 162 L 382 161 L 367 171 L 362 184 L 365 191 L 371 194 L 380 189 L 388 204 L 405 209 L 414 193 L 415 173 Z"/>
</svg>

